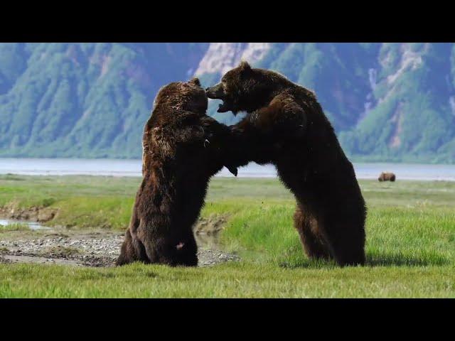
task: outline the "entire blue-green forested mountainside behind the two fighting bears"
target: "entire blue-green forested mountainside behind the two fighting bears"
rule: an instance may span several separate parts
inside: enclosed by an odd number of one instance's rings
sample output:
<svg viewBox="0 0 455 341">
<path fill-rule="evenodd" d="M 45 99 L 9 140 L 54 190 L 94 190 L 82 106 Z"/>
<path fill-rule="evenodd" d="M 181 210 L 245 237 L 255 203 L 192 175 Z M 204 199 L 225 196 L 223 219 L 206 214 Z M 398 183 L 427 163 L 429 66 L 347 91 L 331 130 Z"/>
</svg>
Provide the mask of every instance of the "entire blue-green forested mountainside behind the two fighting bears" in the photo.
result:
<svg viewBox="0 0 455 341">
<path fill-rule="evenodd" d="M 453 43 L 0 43 L 0 156 L 140 158 L 159 87 L 242 58 L 314 90 L 354 161 L 455 163 Z"/>
</svg>

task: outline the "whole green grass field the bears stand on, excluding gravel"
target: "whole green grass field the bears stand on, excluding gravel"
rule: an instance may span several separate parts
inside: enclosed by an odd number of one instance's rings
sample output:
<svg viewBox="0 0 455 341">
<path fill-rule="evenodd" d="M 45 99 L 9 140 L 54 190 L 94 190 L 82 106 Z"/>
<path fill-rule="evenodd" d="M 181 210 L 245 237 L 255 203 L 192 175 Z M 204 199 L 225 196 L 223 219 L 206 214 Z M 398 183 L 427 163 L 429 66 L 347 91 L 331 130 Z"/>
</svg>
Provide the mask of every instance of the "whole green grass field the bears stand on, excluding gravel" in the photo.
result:
<svg viewBox="0 0 455 341">
<path fill-rule="evenodd" d="M 50 223 L 127 227 L 139 178 L 0 175 L 0 206 L 53 207 Z M 0 297 L 455 298 L 455 183 L 361 180 L 367 266 L 309 261 L 278 180 L 215 178 L 203 217 L 227 217 L 223 248 L 242 261 L 185 269 L 0 264 Z M 1 238 L 0 231 L 0 238 Z"/>
</svg>

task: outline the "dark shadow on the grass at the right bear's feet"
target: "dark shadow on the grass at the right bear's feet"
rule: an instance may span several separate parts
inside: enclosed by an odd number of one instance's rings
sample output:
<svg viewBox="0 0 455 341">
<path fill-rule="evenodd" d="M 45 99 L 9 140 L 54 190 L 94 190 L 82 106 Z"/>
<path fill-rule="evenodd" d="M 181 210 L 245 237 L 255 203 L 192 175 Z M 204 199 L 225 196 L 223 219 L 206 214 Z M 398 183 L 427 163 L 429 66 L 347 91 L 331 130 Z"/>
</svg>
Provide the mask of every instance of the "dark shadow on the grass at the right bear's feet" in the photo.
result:
<svg viewBox="0 0 455 341">
<path fill-rule="evenodd" d="M 400 253 L 371 254 L 367 252 L 364 266 L 440 266 L 448 263 L 448 259 L 440 254 L 409 256 Z M 309 259 L 306 256 L 279 260 L 277 264 L 286 269 L 331 269 L 339 267 L 333 260 Z"/>
</svg>

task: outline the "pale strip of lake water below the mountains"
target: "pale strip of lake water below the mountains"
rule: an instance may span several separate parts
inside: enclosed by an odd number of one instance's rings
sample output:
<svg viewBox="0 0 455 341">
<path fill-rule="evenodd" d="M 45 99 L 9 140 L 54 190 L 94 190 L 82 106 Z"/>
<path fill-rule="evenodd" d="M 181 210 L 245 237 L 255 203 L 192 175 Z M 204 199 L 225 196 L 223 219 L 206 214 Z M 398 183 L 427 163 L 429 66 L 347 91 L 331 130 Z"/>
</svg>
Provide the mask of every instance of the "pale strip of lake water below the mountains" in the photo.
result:
<svg viewBox="0 0 455 341">
<path fill-rule="evenodd" d="M 455 181 L 455 165 L 410 163 L 354 163 L 360 179 L 376 179 L 382 171 L 391 171 L 397 180 Z M 109 175 L 141 176 L 141 160 L 80 158 L 0 158 L 0 174 L 20 175 Z M 234 176 L 226 168 L 215 176 Z M 239 168 L 240 178 L 275 178 L 274 166 L 250 163 Z"/>
</svg>

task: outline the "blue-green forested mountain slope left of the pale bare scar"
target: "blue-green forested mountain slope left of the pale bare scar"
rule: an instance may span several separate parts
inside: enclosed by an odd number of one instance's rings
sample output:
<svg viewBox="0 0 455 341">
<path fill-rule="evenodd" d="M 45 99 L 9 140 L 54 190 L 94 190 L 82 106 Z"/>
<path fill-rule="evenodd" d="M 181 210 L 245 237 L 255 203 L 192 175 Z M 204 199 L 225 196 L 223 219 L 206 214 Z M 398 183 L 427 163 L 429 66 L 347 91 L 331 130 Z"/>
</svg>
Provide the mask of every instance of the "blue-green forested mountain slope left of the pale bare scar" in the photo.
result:
<svg viewBox="0 0 455 341">
<path fill-rule="evenodd" d="M 208 44 L 18 44 L 1 70 L 4 156 L 139 157 L 159 87 L 187 79 Z M 6 45 L 6 47 L 5 47 Z M 170 65 L 171 67 L 163 67 Z M 21 72 L 23 71 L 23 72 Z"/>
</svg>

